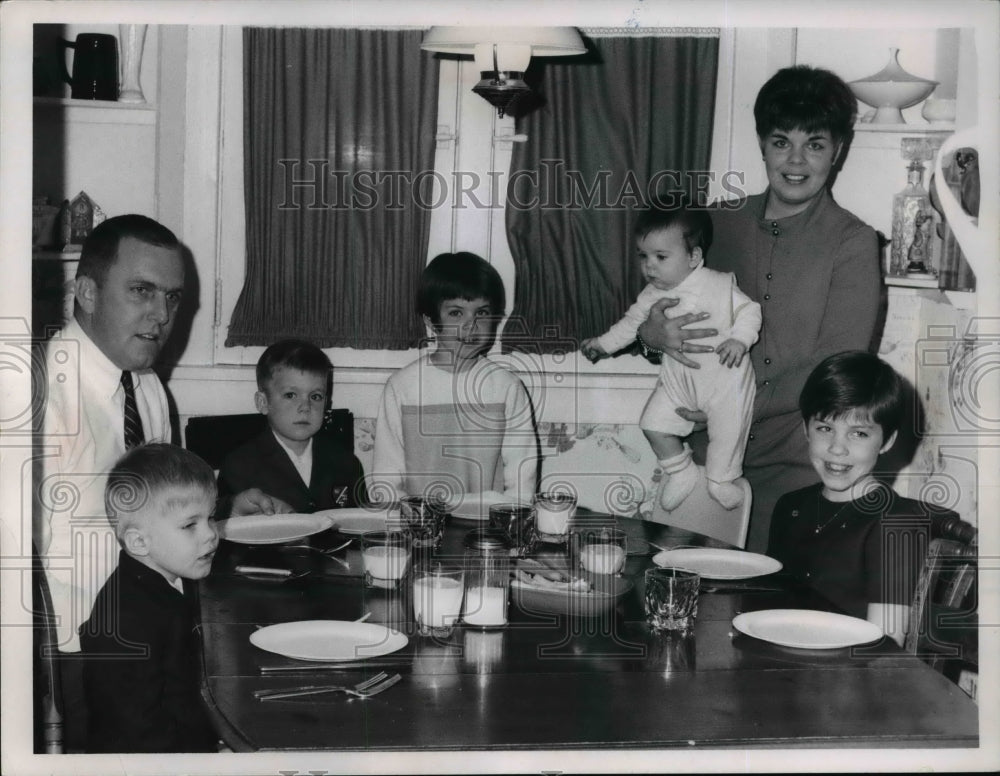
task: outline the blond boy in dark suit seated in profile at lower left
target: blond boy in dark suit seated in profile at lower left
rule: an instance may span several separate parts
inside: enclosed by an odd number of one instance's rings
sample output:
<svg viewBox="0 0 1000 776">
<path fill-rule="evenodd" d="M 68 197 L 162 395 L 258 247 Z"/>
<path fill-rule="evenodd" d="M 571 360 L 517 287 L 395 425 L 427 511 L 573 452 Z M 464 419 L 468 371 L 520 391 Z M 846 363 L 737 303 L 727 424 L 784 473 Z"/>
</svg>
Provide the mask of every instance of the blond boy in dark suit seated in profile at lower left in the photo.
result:
<svg viewBox="0 0 1000 776">
<path fill-rule="evenodd" d="M 198 690 L 197 589 L 219 535 L 215 475 L 194 453 L 140 445 L 108 475 L 118 567 L 80 627 L 88 752 L 214 752 Z"/>
</svg>

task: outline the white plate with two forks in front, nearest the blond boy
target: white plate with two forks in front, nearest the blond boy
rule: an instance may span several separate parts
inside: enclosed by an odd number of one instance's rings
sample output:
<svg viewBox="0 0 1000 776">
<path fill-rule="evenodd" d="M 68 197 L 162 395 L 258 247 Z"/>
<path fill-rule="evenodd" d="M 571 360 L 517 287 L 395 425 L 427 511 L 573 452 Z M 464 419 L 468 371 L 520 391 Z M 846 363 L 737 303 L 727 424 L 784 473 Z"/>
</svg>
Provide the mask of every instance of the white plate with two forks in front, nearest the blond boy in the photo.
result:
<svg viewBox="0 0 1000 776">
<path fill-rule="evenodd" d="M 408 641 L 384 625 L 342 620 L 283 622 L 250 634 L 255 647 L 298 660 L 363 660 L 396 652 Z"/>
</svg>

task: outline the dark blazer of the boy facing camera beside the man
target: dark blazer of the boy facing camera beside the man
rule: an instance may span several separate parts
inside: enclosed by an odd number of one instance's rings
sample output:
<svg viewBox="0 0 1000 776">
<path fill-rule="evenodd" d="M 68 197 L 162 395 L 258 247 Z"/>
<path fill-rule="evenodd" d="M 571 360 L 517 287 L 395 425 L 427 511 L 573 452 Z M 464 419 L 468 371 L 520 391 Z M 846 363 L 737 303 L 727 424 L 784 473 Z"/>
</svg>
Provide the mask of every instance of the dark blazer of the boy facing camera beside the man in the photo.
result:
<svg viewBox="0 0 1000 776">
<path fill-rule="evenodd" d="M 219 469 L 219 495 L 247 488 L 260 488 L 302 514 L 356 507 L 368 500 L 361 461 L 322 432 L 313 437 L 308 487 L 270 428 L 231 452 Z"/>
</svg>

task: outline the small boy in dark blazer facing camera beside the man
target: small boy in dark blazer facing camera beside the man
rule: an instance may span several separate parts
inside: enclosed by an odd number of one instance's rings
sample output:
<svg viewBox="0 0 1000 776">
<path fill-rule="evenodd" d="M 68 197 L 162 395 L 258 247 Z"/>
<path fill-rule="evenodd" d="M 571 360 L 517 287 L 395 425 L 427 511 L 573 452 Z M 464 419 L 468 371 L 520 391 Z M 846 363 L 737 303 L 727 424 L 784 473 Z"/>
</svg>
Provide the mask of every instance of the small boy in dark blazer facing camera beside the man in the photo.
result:
<svg viewBox="0 0 1000 776">
<path fill-rule="evenodd" d="M 268 428 L 226 456 L 219 492 L 254 483 L 298 513 L 366 503 L 361 462 L 321 431 L 332 384 L 333 366 L 315 345 L 282 340 L 265 350 L 254 401 Z"/>
</svg>

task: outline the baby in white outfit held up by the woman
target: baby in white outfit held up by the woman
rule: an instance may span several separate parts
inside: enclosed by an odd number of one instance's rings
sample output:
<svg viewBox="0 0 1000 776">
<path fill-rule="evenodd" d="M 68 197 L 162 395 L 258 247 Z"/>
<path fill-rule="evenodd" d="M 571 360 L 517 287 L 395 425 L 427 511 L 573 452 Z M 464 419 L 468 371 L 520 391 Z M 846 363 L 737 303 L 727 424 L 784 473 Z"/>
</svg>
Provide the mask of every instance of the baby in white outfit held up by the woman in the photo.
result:
<svg viewBox="0 0 1000 776">
<path fill-rule="evenodd" d="M 665 356 L 639 425 L 668 478 L 660 503 L 670 511 L 698 482 L 691 448 L 683 441 L 694 424 L 675 410 L 702 410 L 708 416 L 708 492 L 726 509 L 733 509 L 743 498 L 734 480 L 743 473 L 743 453 L 753 416 L 754 372 L 745 356 L 760 332 L 760 305 L 740 291 L 732 273 L 704 266 L 712 243 L 712 220 L 707 211 L 653 207 L 642 212 L 634 231 L 636 254 L 648 285 L 624 318 L 600 337 L 584 340 L 580 349 L 596 361 L 631 344 L 650 308 L 664 297 L 680 300 L 669 308 L 671 316 L 709 313 L 699 324 L 719 334 L 698 342 L 714 345 L 715 354 L 686 354 L 699 361 L 699 369 Z"/>
</svg>

